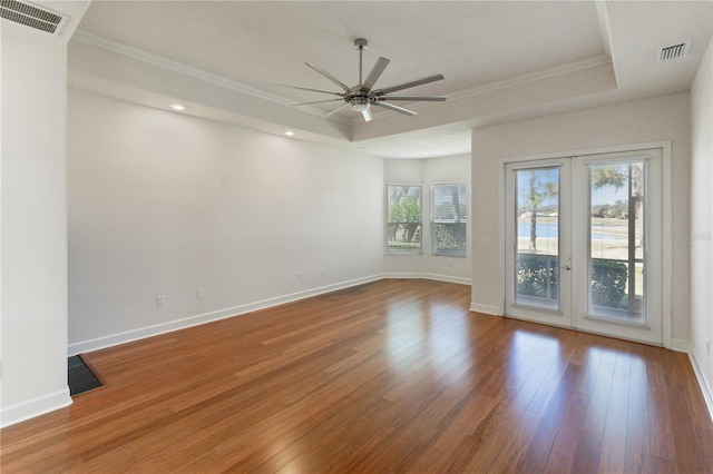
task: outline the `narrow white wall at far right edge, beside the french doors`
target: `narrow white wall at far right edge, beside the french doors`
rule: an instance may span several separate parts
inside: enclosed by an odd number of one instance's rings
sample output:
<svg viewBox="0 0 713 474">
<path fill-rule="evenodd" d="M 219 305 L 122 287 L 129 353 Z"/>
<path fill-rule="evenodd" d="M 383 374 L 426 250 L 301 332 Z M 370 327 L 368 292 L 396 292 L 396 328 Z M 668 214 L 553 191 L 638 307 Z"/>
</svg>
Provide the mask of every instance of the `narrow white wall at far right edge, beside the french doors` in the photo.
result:
<svg viewBox="0 0 713 474">
<path fill-rule="evenodd" d="M 691 350 L 713 416 L 713 39 L 691 88 Z"/>
</svg>

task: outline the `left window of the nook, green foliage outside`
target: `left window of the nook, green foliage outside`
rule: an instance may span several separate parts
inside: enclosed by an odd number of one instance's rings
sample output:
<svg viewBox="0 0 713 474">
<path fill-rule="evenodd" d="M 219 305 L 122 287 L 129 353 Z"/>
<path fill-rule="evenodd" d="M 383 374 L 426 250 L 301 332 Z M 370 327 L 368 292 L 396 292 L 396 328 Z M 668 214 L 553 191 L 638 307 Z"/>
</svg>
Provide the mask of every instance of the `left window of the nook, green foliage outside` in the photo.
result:
<svg viewBox="0 0 713 474">
<path fill-rule="evenodd" d="M 387 187 L 388 254 L 421 253 L 421 187 Z"/>
</svg>

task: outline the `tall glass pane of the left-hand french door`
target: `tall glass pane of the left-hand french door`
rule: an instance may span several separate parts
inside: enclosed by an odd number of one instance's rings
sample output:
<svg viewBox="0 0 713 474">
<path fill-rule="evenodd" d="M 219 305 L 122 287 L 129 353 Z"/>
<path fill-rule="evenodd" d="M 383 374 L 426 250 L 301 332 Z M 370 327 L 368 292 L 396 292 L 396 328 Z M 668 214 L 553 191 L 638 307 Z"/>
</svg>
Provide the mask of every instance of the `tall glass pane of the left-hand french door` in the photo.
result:
<svg viewBox="0 0 713 474">
<path fill-rule="evenodd" d="M 515 174 L 515 302 L 559 309 L 559 168 Z"/>
</svg>

